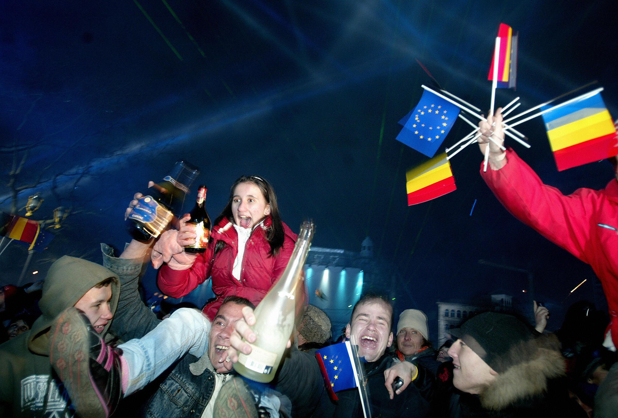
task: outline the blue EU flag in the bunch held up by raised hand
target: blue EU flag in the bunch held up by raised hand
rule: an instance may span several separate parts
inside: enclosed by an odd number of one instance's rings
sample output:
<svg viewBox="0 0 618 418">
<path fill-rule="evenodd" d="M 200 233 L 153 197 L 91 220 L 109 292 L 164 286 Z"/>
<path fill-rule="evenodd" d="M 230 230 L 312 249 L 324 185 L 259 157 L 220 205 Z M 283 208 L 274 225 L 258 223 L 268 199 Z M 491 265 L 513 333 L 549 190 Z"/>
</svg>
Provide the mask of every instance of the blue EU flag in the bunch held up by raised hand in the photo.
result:
<svg viewBox="0 0 618 418">
<path fill-rule="evenodd" d="M 397 140 L 433 157 L 455 124 L 459 108 L 425 90 L 418 105 L 399 121 L 404 129 Z"/>
</svg>

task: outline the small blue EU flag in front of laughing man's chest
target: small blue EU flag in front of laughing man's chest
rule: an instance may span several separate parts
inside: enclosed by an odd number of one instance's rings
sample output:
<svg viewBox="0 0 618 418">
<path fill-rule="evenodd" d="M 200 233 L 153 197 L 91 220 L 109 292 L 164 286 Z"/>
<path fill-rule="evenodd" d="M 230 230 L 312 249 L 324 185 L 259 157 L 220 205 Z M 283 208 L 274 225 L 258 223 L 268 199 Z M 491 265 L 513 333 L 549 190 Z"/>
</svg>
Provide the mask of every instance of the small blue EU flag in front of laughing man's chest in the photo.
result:
<svg viewBox="0 0 618 418">
<path fill-rule="evenodd" d="M 326 390 L 335 401 L 339 400 L 335 392 L 358 387 L 358 375 L 352 356 L 349 341 L 321 348 L 315 353 Z"/>
</svg>

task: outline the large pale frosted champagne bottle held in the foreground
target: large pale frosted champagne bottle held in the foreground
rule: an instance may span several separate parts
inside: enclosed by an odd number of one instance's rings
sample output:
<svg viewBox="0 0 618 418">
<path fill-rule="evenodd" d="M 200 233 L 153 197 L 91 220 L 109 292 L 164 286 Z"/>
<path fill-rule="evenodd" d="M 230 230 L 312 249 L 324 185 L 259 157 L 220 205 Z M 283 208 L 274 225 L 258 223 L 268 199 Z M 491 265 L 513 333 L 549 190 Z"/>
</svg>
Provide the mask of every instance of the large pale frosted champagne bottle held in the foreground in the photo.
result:
<svg viewBox="0 0 618 418">
<path fill-rule="evenodd" d="M 234 364 L 236 372 L 244 377 L 268 383 L 279 368 L 287 341 L 294 330 L 297 302 L 302 299 L 302 270 L 314 231 L 313 222 L 303 222 L 286 270 L 255 309 L 252 330 L 257 339 L 255 343 L 249 343 L 251 354 L 239 353 L 239 360 Z M 245 339 L 243 341 L 248 343 Z"/>
</svg>

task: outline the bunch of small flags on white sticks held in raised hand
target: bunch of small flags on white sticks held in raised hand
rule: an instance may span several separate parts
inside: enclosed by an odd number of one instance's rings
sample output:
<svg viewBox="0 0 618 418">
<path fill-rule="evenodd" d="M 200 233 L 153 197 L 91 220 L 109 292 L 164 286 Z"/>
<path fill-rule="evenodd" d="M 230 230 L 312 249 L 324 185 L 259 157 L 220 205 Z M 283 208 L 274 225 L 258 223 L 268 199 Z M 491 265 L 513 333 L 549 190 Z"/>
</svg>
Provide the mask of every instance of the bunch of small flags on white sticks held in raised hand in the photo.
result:
<svg viewBox="0 0 618 418">
<path fill-rule="evenodd" d="M 489 67 L 488 80 L 493 81 L 495 62 L 497 65 L 495 87 L 515 88 L 519 33 L 515 32 L 509 25 L 501 23 L 497 38 L 499 40 L 496 39 L 496 48 L 494 48 Z M 422 64 L 420 65 L 434 80 L 428 70 Z M 460 106 L 460 104 L 454 105 L 456 102 L 447 99 L 446 96 L 424 88 L 425 91 L 417 106 L 399 121 L 403 128 L 397 135 L 397 140 L 431 158 L 431 160 L 408 170 L 406 173 L 408 205 L 427 202 L 457 189 L 449 163 L 450 157 L 447 157 L 446 153 L 434 155 L 454 126 L 460 108 L 465 109 L 468 113 L 475 114 L 470 109 Z M 601 90 L 603 89 L 599 88 L 561 105 L 536 106 L 520 113 L 520 115 L 541 108 L 540 113 L 529 116 L 522 121 L 509 123 L 514 126 L 532 117 L 542 115 L 558 171 L 616 156 L 618 155 L 618 135 L 612 117 L 599 93 Z M 457 98 L 451 93 L 441 91 Z M 459 98 L 457 100 L 469 105 Z M 549 104 L 551 101 L 546 103 Z M 480 117 L 478 114 L 475 114 L 475 116 Z M 462 119 L 465 118 L 462 117 Z M 474 133 L 472 132 L 463 140 L 472 138 L 468 143 L 473 142 L 480 135 L 473 137 Z M 509 132 L 506 133 L 513 136 Z M 523 137 L 522 134 L 519 135 Z M 517 137 L 514 138 L 517 139 Z"/>
</svg>

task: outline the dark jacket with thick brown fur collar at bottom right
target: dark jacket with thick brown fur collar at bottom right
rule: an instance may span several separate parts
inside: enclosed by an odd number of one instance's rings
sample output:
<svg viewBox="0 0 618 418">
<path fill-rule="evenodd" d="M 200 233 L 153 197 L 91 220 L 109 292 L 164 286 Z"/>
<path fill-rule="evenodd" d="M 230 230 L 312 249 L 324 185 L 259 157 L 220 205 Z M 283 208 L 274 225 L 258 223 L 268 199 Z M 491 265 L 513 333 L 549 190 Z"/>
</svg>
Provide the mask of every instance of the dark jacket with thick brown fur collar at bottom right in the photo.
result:
<svg viewBox="0 0 618 418">
<path fill-rule="evenodd" d="M 450 399 L 436 404 L 436 417 L 586 417 L 564 384 L 564 359 L 555 336 L 538 336 L 511 349 L 511 365 L 480 395 L 453 388 Z M 444 406 L 448 410 L 444 410 Z"/>
</svg>

